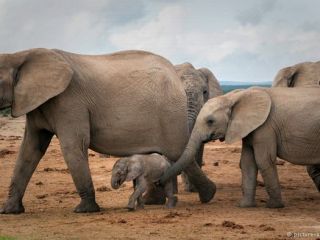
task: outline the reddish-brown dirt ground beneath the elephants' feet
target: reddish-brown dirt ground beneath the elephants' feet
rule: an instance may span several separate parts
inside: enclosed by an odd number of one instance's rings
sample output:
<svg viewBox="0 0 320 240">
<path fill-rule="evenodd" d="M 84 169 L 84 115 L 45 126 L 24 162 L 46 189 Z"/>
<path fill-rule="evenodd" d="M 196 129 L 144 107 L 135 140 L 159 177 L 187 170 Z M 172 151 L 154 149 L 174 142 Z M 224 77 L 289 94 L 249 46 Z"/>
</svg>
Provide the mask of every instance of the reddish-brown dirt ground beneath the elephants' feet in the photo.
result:
<svg viewBox="0 0 320 240">
<path fill-rule="evenodd" d="M 23 118 L 0 118 L 0 205 L 6 200 L 23 128 Z M 111 169 L 116 158 L 90 151 L 90 168 L 102 211 L 75 214 L 73 208 L 79 197 L 55 138 L 29 183 L 24 197 L 26 213 L 0 215 L 0 236 L 205 240 L 292 239 L 298 238 L 297 234 L 300 239 L 316 239 L 318 234 L 320 239 L 320 194 L 302 166 L 288 162 L 278 165 L 285 208 L 265 208 L 267 197 L 262 186 L 257 189 L 258 207 L 237 207 L 241 198 L 240 150 L 240 144 L 206 145 L 204 171 L 217 184 L 216 196 L 209 204 L 201 204 L 197 194 L 185 192 L 179 179 L 175 209 L 146 206 L 136 212 L 124 208 L 133 190 L 131 183 L 111 190 Z"/>
</svg>

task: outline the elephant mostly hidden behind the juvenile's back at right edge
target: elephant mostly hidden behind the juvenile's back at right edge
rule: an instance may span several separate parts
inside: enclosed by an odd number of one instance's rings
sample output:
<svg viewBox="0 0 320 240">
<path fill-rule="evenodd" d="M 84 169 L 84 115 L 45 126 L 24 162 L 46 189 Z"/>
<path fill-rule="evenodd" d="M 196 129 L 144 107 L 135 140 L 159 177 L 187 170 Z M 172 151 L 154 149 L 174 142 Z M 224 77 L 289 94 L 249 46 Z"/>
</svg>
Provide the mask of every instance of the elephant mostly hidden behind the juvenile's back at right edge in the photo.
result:
<svg viewBox="0 0 320 240">
<path fill-rule="evenodd" d="M 280 69 L 273 87 L 320 87 L 320 61 L 303 62 Z M 307 172 L 320 192 L 320 165 L 307 166 Z"/>
</svg>

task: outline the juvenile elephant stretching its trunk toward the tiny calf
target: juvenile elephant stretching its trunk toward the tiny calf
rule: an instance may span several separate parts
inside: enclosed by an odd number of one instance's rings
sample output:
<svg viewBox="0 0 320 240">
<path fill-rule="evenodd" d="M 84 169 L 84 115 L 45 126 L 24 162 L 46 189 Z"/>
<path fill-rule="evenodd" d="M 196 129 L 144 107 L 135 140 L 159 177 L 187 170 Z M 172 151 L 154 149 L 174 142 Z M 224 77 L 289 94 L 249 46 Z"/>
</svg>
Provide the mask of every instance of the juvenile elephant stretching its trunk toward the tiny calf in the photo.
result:
<svg viewBox="0 0 320 240">
<path fill-rule="evenodd" d="M 267 207 L 283 207 L 276 157 L 293 164 L 320 163 L 320 89 L 235 90 L 209 100 L 201 109 L 188 145 L 160 183 L 188 166 L 209 140 L 242 139 L 241 207 L 255 206 L 257 170 L 269 195 Z"/>
</svg>

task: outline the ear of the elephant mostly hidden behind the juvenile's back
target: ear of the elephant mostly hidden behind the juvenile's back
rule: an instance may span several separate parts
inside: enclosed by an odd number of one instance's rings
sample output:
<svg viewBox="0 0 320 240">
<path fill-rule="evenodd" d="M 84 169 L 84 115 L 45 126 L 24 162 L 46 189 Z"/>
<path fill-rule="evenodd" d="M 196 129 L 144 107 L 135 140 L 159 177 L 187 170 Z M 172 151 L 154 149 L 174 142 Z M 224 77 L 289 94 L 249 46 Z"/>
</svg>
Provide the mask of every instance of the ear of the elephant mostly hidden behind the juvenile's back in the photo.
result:
<svg viewBox="0 0 320 240">
<path fill-rule="evenodd" d="M 295 67 L 281 69 L 273 80 L 273 87 L 294 87 L 298 71 Z"/>
</svg>

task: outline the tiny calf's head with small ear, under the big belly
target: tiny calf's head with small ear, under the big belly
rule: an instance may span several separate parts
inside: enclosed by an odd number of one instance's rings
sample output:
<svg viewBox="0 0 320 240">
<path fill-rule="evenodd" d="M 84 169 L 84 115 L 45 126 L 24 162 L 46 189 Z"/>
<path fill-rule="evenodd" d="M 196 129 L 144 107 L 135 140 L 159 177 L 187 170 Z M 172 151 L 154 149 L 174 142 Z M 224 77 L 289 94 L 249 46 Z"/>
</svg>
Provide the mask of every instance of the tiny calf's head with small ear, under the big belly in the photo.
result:
<svg viewBox="0 0 320 240">
<path fill-rule="evenodd" d="M 118 189 L 125 181 L 133 181 L 143 174 L 143 165 L 135 157 L 120 158 L 112 168 L 111 186 Z"/>
</svg>

